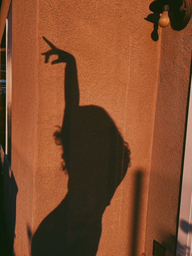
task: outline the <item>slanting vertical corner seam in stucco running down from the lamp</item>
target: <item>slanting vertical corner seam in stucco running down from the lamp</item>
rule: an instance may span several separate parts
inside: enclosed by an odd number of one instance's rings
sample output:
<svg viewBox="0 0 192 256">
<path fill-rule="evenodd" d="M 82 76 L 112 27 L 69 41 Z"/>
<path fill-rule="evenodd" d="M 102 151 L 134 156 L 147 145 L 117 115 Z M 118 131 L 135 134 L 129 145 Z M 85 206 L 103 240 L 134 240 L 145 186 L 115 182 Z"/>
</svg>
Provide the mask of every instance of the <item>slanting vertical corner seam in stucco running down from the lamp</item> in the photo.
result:
<svg viewBox="0 0 192 256">
<path fill-rule="evenodd" d="M 152 112 L 153 116 L 153 127 L 152 127 L 152 136 L 151 136 L 151 148 L 150 148 L 150 163 L 149 163 L 149 178 L 148 178 L 148 193 L 147 193 L 147 213 L 146 213 L 146 224 L 145 224 L 145 236 L 146 236 L 146 229 L 147 229 L 147 217 L 148 217 L 148 199 L 149 199 L 149 183 L 150 183 L 150 173 L 151 173 L 151 161 L 152 161 L 152 149 L 153 149 L 153 139 L 154 139 L 154 123 L 155 123 L 155 113 L 156 113 L 156 104 L 157 104 L 157 92 L 158 92 L 158 86 L 159 86 L 159 78 L 160 78 L 160 60 L 161 60 L 161 41 L 162 41 L 162 29 L 159 32 L 159 42 L 158 42 L 158 57 L 157 57 L 157 78 L 155 82 L 155 92 L 154 92 L 154 110 Z M 145 239 L 146 244 L 146 239 Z M 145 250 L 145 244 L 144 244 L 144 250 Z"/>
</svg>

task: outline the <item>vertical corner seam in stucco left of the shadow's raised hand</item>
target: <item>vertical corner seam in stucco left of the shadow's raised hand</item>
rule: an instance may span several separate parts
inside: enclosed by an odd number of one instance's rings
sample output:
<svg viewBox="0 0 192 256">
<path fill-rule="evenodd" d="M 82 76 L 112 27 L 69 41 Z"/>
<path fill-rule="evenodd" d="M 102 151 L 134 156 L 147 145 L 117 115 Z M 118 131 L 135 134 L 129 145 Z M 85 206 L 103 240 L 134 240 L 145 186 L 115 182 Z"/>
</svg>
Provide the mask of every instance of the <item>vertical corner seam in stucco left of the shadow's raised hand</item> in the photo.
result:
<svg viewBox="0 0 192 256">
<path fill-rule="evenodd" d="M 37 22 L 36 22 L 36 73 L 37 73 L 37 89 L 36 89 L 36 111 L 35 111 L 35 122 L 36 122 L 36 131 L 35 131 L 35 145 L 34 145 L 34 163 L 35 163 L 35 168 L 34 168 L 34 176 L 33 176 L 33 215 L 32 215 L 32 234 L 34 231 L 34 213 L 35 213 L 35 176 L 36 176 L 36 171 L 37 171 L 37 130 L 38 130 L 38 89 L 39 89 L 39 68 L 38 68 L 38 61 L 39 61 L 39 0 L 36 0 L 36 5 L 37 5 L 37 13 L 36 13 L 36 18 L 37 18 Z"/>
</svg>

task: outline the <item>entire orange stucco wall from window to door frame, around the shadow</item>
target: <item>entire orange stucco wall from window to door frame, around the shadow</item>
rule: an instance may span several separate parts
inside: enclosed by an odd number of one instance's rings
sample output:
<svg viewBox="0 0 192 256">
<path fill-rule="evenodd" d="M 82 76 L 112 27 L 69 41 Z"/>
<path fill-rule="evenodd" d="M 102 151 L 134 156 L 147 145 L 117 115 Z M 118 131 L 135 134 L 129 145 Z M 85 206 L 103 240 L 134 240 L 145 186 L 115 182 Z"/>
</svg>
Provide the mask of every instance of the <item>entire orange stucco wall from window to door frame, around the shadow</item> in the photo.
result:
<svg viewBox="0 0 192 256">
<path fill-rule="evenodd" d="M 74 56 L 79 109 L 90 105 L 102 109 L 129 145 L 129 168 L 102 214 L 97 256 L 149 256 L 153 239 L 163 243 L 175 235 L 190 25 L 182 32 L 166 28 L 162 42 L 159 29 L 159 40 L 153 41 L 153 23 L 144 19 L 150 13 L 149 3 L 13 2 L 11 167 L 18 187 L 16 255 L 30 255 L 32 235 L 38 234 L 42 223 L 48 223 L 46 236 L 54 237 L 55 224 L 45 222 L 46 217 L 50 213 L 54 217 L 54 209 L 60 209 L 69 193 L 70 175 L 62 170 L 62 147 L 53 136 L 63 124 L 66 64 L 52 65 L 57 55 L 45 63 L 41 54 L 50 46 L 43 37 Z M 0 37 L 8 5 L 3 0 Z M 86 184 L 83 174 L 81 178 Z"/>
</svg>

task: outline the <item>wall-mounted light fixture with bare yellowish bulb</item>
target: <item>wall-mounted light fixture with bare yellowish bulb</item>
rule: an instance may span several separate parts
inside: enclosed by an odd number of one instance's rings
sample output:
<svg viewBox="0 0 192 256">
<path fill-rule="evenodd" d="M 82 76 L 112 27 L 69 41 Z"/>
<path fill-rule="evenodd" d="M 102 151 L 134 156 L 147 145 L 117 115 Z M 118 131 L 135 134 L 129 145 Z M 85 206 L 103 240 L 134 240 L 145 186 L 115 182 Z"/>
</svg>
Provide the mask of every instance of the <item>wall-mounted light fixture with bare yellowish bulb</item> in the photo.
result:
<svg viewBox="0 0 192 256">
<path fill-rule="evenodd" d="M 187 26 L 192 15 L 192 0 L 154 0 L 149 5 L 153 13 L 162 13 L 159 26 L 164 28 L 169 25 L 168 12 L 173 12 L 171 26 L 175 30 L 182 30 Z"/>
</svg>

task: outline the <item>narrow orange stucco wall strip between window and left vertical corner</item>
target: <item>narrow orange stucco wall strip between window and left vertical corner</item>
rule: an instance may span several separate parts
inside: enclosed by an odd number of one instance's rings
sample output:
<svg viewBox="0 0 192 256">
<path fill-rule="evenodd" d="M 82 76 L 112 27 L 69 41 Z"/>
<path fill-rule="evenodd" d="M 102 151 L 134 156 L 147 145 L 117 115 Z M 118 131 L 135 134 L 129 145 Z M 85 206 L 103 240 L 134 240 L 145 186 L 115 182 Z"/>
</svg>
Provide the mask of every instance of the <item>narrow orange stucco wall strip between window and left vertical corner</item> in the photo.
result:
<svg viewBox="0 0 192 256">
<path fill-rule="evenodd" d="M 18 187 L 15 252 L 30 255 L 37 138 L 37 1 L 12 6 L 11 168 Z"/>
</svg>

